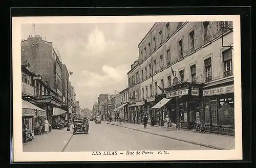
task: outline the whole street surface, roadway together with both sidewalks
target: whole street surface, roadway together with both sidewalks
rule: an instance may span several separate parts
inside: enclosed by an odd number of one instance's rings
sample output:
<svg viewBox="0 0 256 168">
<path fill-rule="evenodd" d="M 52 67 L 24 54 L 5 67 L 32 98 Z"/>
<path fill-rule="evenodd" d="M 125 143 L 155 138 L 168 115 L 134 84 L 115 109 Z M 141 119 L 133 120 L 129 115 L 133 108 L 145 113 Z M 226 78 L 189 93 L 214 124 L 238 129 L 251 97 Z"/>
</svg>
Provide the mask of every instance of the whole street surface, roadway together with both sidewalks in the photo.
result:
<svg viewBox="0 0 256 168">
<path fill-rule="evenodd" d="M 120 127 L 116 122 L 104 123 L 103 121 L 101 124 L 89 122 L 89 125 L 89 134 L 73 135 L 72 129 L 67 131 L 64 128 L 53 129 L 49 134 L 35 135 L 32 142 L 23 144 L 23 151 L 214 150 L 212 147 L 184 142 L 182 138 L 199 143 L 208 142 L 220 148 L 231 148 L 234 143 L 232 142 L 234 138 L 229 136 L 201 134 L 173 128 L 169 131 L 162 127 L 151 126 L 144 129 L 142 125 L 126 123 L 122 123 Z M 177 140 L 178 138 L 181 141 Z M 217 141 L 219 144 L 215 143 Z"/>
</svg>

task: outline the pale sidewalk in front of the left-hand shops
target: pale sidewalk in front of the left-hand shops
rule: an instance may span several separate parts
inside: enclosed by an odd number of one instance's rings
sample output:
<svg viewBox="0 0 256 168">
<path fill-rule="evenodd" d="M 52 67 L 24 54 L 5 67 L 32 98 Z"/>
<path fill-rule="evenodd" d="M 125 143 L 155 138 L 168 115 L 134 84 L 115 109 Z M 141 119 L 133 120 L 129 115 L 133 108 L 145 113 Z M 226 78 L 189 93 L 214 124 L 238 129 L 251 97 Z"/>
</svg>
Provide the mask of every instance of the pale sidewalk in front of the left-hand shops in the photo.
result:
<svg viewBox="0 0 256 168">
<path fill-rule="evenodd" d="M 33 141 L 23 143 L 23 152 L 61 152 L 72 137 L 71 131 L 52 129 L 48 134 L 35 135 Z"/>
</svg>

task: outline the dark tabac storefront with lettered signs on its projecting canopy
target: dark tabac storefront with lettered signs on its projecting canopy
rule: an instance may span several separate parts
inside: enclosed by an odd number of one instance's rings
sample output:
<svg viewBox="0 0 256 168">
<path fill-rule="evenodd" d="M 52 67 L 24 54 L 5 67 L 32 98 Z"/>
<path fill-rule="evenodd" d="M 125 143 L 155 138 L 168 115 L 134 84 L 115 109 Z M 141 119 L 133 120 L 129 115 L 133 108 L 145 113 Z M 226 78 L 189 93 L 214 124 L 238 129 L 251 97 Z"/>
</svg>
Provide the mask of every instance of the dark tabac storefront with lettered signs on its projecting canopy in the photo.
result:
<svg viewBox="0 0 256 168">
<path fill-rule="evenodd" d="M 201 85 L 197 83 L 184 82 L 172 86 L 172 91 L 166 94 L 170 99 L 166 109 L 174 127 L 191 129 L 194 122 L 199 123 L 203 119 L 201 97 Z"/>
</svg>

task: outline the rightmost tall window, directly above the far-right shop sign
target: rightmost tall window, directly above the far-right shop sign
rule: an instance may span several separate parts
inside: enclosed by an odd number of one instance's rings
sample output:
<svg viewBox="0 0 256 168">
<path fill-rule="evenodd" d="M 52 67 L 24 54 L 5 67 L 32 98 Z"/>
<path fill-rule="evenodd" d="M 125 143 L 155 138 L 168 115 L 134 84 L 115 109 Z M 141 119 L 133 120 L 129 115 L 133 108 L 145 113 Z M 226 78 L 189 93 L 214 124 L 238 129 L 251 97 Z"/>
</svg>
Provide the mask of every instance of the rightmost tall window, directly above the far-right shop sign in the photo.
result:
<svg viewBox="0 0 256 168">
<path fill-rule="evenodd" d="M 224 77 L 232 75 L 232 51 L 231 48 L 222 52 L 224 63 Z"/>
</svg>

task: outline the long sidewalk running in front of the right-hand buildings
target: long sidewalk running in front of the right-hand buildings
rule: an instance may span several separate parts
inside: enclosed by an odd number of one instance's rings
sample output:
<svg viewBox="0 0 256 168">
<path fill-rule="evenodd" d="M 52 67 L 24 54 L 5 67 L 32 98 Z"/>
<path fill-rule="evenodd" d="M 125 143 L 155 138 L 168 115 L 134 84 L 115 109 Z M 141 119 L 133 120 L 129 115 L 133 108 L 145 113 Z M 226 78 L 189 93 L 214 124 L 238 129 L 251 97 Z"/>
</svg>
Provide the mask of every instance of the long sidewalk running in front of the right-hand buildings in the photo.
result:
<svg viewBox="0 0 256 168">
<path fill-rule="evenodd" d="M 172 127 L 168 128 L 169 131 L 167 131 L 166 128 L 152 127 L 150 125 L 147 125 L 147 129 L 144 129 L 144 127 L 140 124 L 122 123 L 122 125 L 120 125 L 117 122 L 105 123 L 214 149 L 234 149 L 234 137 L 231 136 L 185 131 Z"/>
</svg>

